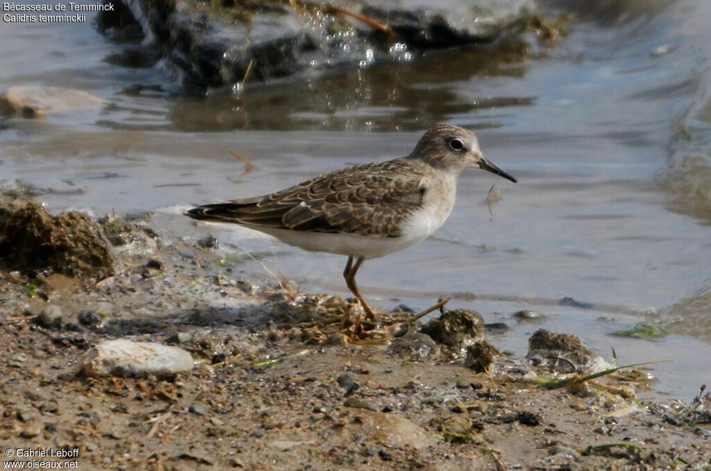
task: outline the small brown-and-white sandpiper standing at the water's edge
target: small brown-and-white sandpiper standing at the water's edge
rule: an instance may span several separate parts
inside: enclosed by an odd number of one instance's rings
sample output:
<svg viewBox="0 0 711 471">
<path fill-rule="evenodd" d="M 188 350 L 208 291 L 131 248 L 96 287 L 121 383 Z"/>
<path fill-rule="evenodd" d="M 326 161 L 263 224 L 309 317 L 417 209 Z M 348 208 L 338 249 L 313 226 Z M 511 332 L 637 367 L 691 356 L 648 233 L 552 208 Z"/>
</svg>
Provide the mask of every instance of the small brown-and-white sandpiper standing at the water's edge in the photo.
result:
<svg viewBox="0 0 711 471">
<path fill-rule="evenodd" d="M 363 308 L 355 274 L 368 259 L 417 244 L 454 207 L 456 180 L 468 168 L 516 179 L 484 158 L 473 132 L 439 124 L 407 156 L 319 175 L 276 193 L 193 207 L 196 220 L 240 224 L 307 251 L 348 256 L 343 278 Z"/>
</svg>

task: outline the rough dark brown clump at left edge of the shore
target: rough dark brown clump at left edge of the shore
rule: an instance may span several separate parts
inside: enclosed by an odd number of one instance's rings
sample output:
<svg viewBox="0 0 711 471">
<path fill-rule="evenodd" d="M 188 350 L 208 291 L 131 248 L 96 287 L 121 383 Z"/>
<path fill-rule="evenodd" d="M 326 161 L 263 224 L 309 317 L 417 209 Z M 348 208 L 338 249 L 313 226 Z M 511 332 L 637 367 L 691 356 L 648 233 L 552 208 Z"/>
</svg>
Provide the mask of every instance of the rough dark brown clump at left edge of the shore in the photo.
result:
<svg viewBox="0 0 711 471">
<path fill-rule="evenodd" d="M 106 239 L 89 216 L 76 211 L 52 216 L 23 199 L 0 201 L 0 261 L 27 274 L 50 269 L 105 278 L 114 273 Z"/>
</svg>

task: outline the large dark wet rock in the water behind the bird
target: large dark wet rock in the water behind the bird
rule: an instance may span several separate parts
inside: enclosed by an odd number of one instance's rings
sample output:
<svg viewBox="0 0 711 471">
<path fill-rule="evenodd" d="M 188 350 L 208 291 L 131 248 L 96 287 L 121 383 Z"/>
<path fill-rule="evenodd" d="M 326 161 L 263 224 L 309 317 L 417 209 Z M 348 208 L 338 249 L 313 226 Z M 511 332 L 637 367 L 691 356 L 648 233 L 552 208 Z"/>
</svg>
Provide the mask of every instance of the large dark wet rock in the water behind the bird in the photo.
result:
<svg viewBox="0 0 711 471">
<path fill-rule="evenodd" d="M 520 33 L 533 0 L 117 1 L 102 31 L 142 29 L 186 92 L 410 60 L 410 50 L 492 43 Z M 112 18 L 113 16 L 120 16 Z"/>
</svg>

